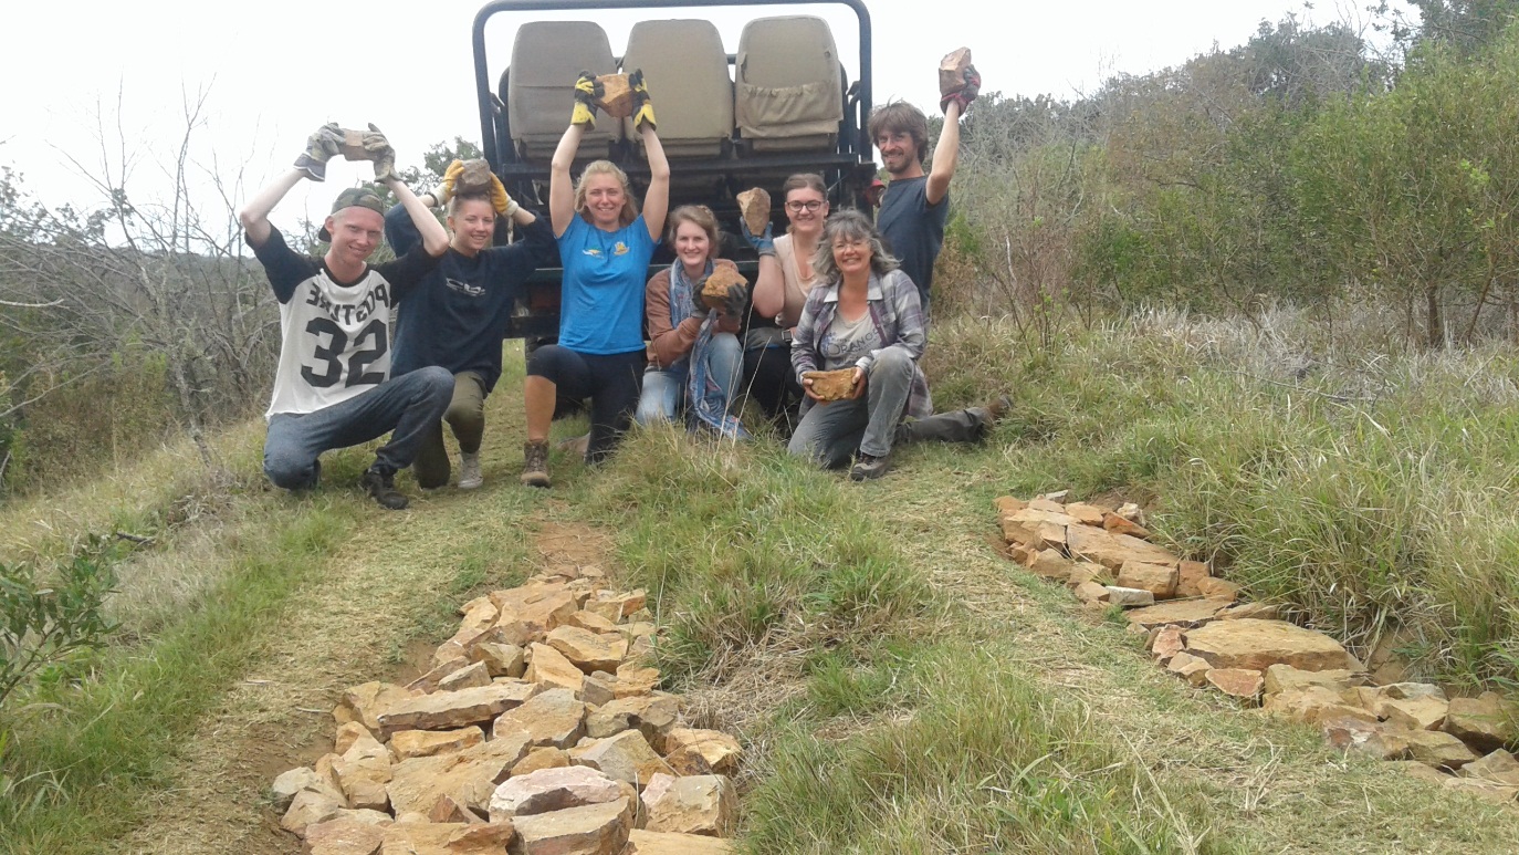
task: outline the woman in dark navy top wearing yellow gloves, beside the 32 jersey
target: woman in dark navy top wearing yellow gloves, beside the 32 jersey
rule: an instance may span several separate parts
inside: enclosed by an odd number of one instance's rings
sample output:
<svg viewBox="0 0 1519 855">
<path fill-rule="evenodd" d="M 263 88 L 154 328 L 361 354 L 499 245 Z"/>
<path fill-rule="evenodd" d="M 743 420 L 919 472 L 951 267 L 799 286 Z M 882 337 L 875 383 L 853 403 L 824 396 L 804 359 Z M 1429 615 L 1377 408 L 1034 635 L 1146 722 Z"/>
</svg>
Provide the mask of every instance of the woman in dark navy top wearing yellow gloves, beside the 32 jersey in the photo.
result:
<svg viewBox="0 0 1519 855">
<path fill-rule="evenodd" d="M 453 238 L 437 269 L 401 305 L 392 374 L 399 377 L 434 364 L 454 375 L 454 395 L 444 422 L 459 440 L 459 489 L 468 491 L 483 481 L 485 398 L 501 377 L 501 337 L 518 289 L 539 266 L 554 264 L 559 254 L 548 220 L 518 205 L 495 175 L 489 193 L 454 196 L 463 172 L 465 164 L 454 161 L 442 185 L 422 196 L 424 202 L 447 207 Z M 523 238 L 491 248 L 497 216 L 510 217 Z M 386 214 L 384 231 L 398 255 L 421 240 L 401 205 Z M 422 489 L 448 483 L 442 422 L 427 433 L 415 466 Z"/>
</svg>

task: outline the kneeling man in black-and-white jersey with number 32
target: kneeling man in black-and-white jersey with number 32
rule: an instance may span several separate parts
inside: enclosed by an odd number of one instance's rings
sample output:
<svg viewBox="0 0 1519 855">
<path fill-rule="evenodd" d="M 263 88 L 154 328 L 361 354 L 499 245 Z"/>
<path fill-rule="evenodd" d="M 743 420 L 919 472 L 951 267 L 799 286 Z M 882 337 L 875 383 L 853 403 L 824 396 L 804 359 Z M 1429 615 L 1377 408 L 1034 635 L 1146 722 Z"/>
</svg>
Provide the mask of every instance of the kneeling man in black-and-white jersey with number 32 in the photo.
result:
<svg viewBox="0 0 1519 855">
<path fill-rule="evenodd" d="M 444 416 L 454 378 L 425 368 L 390 380 L 390 314 L 448 249 L 448 234 L 395 175 L 395 152 L 371 125 L 365 135 L 375 181 L 406 207 L 422 243 L 407 255 L 371 267 L 369 255 L 384 231 L 384 202 L 374 190 L 343 190 L 317 240 L 321 258 L 290 249 L 269 211 L 302 178 L 327 178 L 327 161 L 339 153 L 342 132 L 322 126 L 307 140 L 295 169 L 266 187 L 240 217 L 254 255 L 279 301 L 279 369 L 269 402 L 264 474 L 276 486 L 316 486 L 324 451 L 390 440 L 375 453 L 362 484 L 383 507 L 401 510 L 407 498 L 395 489 L 395 472 L 412 465 L 422 439 Z"/>
</svg>

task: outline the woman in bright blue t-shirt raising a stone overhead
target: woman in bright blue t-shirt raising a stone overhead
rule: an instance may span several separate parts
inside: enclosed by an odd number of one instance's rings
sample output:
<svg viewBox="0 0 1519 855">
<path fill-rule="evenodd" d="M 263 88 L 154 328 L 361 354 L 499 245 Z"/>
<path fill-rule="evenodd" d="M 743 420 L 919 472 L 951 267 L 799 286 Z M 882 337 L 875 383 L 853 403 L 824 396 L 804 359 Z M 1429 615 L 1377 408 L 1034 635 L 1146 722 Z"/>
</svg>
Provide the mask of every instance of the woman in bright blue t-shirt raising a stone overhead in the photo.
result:
<svg viewBox="0 0 1519 855">
<path fill-rule="evenodd" d="M 595 123 L 595 77 L 574 87 L 570 128 L 554 149 L 548 179 L 548 219 L 559 241 L 564 284 L 559 343 L 527 358 L 527 445 L 523 483 L 547 487 L 548 427 L 591 399 L 591 436 L 585 459 L 605 460 L 627 430 L 647 363 L 644 351 L 644 279 L 670 207 L 670 162 L 655 134 L 655 111 L 643 71 L 629 74 L 633 128 L 649 159 L 649 191 L 638 214 L 627 175 L 611 161 L 586 164 L 571 185 L 570 164 L 586 129 Z"/>
</svg>

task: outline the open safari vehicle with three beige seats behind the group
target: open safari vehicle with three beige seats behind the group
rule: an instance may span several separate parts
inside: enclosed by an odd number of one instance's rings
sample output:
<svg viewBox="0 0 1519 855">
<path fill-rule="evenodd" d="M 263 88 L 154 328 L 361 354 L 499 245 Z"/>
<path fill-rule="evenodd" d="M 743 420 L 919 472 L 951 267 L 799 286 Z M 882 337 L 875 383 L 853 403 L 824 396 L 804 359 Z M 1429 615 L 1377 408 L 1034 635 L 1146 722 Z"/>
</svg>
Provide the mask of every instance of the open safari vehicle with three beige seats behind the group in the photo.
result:
<svg viewBox="0 0 1519 855">
<path fill-rule="evenodd" d="M 700 8 L 776 8 L 842 5 L 860 23 L 860 79 L 849 80 L 832 30 L 816 15 L 752 18 L 728 53 L 722 35 L 705 18 L 655 18 L 633 24 L 621 55 L 594 21 L 556 21 L 554 12 Z M 781 9 L 784 11 L 784 9 Z M 486 23 L 498 14 L 530 14 L 518 26 L 510 58 L 498 79 L 503 46 L 486 44 Z M 875 176 L 866 120 L 870 114 L 870 14 L 863 0 L 495 0 L 475 15 L 475 94 L 480 138 L 491 167 L 507 191 L 529 207 L 547 210 L 548 164 L 568 125 L 571 90 L 579 73 L 612 74 L 643 68 L 659 115 L 659 140 L 670 159 L 670 207 L 703 203 L 723 225 L 723 255 L 753 276 L 756 260 L 738 232 L 737 194 L 763 187 L 772 197 L 779 232 L 779 188 L 797 172 L 820 173 L 834 207 L 864 208 Z M 494 61 L 494 62 L 492 62 Z M 597 114 L 585 135 L 574 172 L 592 159 L 611 159 L 627 172 L 643 196 L 649 164 L 643 143 L 626 118 Z M 504 223 L 503 223 L 504 225 Z M 656 257 L 656 263 L 659 257 Z M 653 275 L 656 269 L 650 270 Z M 559 333 L 561 269 L 539 270 L 507 330 L 509 337 L 554 339 Z"/>
</svg>

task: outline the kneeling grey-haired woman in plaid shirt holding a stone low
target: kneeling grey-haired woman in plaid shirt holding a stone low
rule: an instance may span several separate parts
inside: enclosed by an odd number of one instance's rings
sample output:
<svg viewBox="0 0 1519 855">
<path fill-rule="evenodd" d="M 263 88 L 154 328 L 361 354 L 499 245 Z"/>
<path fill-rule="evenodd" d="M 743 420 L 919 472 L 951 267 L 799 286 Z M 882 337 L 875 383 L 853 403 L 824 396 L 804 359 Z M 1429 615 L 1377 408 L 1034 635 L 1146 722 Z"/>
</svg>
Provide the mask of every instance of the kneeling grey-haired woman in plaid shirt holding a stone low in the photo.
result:
<svg viewBox="0 0 1519 855">
<path fill-rule="evenodd" d="M 819 284 L 807 295 L 791 342 L 791 368 L 807 393 L 787 446 L 791 454 L 829 469 L 854 457 L 849 477 L 863 481 L 886 474 L 896 442 L 971 442 L 1001 416 L 1006 399 L 933 415 L 928 380 L 917 368 L 924 352 L 917 286 L 863 214 L 828 217 L 813 270 Z M 842 369 L 854 371 L 852 395 L 842 401 L 823 401 L 805 377 Z M 917 421 L 902 424 L 904 415 Z"/>
</svg>

